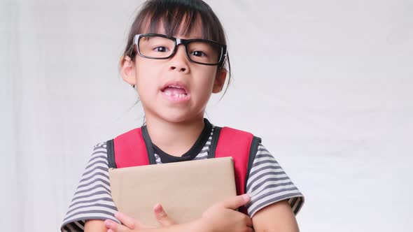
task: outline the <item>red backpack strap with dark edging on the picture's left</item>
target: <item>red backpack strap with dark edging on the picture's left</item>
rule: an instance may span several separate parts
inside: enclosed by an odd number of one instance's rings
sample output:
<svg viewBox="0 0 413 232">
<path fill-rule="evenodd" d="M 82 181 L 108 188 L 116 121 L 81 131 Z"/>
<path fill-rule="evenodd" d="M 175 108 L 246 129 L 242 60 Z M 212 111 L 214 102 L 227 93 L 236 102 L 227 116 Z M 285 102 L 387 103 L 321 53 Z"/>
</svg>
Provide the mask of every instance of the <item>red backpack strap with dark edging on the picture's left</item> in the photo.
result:
<svg viewBox="0 0 413 232">
<path fill-rule="evenodd" d="M 156 164 L 146 126 L 133 129 L 107 141 L 106 150 L 109 168 Z"/>
</svg>

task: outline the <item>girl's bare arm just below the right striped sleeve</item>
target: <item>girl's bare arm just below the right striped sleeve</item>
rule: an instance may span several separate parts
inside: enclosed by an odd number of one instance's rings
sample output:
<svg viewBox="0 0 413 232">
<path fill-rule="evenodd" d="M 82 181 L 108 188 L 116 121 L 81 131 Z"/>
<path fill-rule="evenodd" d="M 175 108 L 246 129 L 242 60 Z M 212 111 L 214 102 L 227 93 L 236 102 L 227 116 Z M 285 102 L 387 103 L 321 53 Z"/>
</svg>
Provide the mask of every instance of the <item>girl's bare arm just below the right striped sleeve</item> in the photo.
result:
<svg viewBox="0 0 413 232">
<path fill-rule="evenodd" d="M 288 200 L 262 208 L 253 215 L 255 232 L 299 232 L 297 221 Z"/>
</svg>

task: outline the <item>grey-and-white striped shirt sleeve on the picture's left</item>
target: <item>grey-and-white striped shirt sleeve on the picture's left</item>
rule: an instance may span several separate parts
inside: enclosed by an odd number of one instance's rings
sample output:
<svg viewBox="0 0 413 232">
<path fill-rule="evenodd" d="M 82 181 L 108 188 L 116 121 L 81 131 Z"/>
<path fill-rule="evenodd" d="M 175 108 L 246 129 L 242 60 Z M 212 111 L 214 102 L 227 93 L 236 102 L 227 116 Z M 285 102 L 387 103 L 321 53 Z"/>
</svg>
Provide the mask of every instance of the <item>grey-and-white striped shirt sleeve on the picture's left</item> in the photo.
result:
<svg viewBox="0 0 413 232">
<path fill-rule="evenodd" d="M 61 231 L 84 231 L 85 221 L 112 219 L 117 208 L 111 196 L 106 143 L 94 146 L 92 156 L 80 178 Z"/>
</svg>

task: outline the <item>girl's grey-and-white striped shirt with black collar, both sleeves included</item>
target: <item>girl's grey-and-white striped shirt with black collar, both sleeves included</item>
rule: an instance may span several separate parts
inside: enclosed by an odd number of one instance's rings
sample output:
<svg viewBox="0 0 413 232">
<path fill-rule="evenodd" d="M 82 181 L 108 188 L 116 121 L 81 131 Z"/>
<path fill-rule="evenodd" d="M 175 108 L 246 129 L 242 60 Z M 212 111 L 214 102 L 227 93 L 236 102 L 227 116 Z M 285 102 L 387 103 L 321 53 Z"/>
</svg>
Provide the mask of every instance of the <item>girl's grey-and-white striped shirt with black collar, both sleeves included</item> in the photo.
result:
<svg viewBox="0 0 413 232">
<path fill-rule="evenodd" d="M 214 126 L 211 126 L 211 130 L 207 133 L 209 133 L 208 140 L 204 143 L 202 150 L 192 159 L 207 159 Z M 165 163 L 167 158 L 172 158 L 168 155 L 165 158 L 165 153 L 155 145 L 154 147 L 157 164 L 162 164 L 162 161 Z M 304 203 L 304 196 L 262 144 L 258 146 L 253 166 L 248 175 L 246 192 L 251 196 L 251 201 L 246 205 L 250 217 L 253 217 L 258 210 L 267 205 L 287 199 L 293 212 L 297 215 Z M 66 212 L 61 230 L 83 231 L 85 221 L 90 219 L 112 219 L 120 223 L 114 216 L 116 211 L 116 205 L 111 198 L 106 142 L 99 143 L 94 146 L 92 156 Z"/>
</svg>

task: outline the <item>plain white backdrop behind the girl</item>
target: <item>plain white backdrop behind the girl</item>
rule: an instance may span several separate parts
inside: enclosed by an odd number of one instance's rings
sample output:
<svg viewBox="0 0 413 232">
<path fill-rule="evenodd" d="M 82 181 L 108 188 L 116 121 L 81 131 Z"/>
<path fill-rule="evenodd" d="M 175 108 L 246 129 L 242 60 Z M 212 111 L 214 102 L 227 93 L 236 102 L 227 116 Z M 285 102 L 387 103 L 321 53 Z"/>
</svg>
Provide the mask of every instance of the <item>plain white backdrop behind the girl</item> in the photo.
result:
<svg viewBox="0 0 413 232">
<path fill-rule="evenodd" d="M 142 123 L 118 59 L 141 1 L 0 1 L 1 231 L 58 231 L 93 145 Z M 306 197 L 301 231 L 411 231 L 413 1 L 207 1 L 251 131 Z"/>
</svg>

